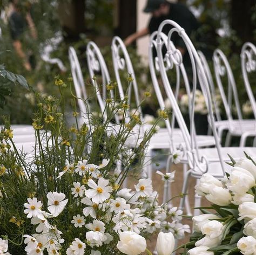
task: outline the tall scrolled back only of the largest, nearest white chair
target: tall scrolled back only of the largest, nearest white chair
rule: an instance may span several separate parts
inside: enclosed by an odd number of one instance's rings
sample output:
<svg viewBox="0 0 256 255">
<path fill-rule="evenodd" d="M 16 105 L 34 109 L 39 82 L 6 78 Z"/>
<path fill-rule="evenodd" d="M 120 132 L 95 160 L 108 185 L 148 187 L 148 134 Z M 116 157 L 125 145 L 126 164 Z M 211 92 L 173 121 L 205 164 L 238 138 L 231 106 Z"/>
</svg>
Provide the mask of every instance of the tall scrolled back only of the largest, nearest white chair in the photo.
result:
<svg viewBox="0 0 256 255">
<path fill-rule="evenodd" d="M 161 36 L 161 33 L 163 31 L 164 26 L 171 25 L 172 29 L 168 33 L 167 37 L 167 51 L 165 56 L 163 56 L 163 46 L 164 41 Z M 192 65 L 192 98 L 191 98 L 191 123 L 190 123 L 190 132 L 188 131 L 186 127 L 185 120 L 183 118 L 183 115 L 180 112 L 178 102 L 176 100 L 176 97 L 173 94 L 172 91 L 172 85 L 168 79 L 167 72 L 166 72 L 166 63 L 170 63 L 170 67 L 173 66 L 180 66 L 183 63 L 183 57 L 179 50 L 177 50 L 173 44 L 171 43 L 172 35 L 174 32 L 177 32 L 179 37 L 183 39 L 186 50 L 188 51 L 188 54 L 190 56 L 191 65 Z M 163 80 L 164 88 L 167 94 L 167 97 L 171 101 L 172 109 L 174 114 L 176 115 L 177 121 L 179 123 L 179 127 L 181 129 L 181 132 L 183 134 L 185 146 L 186 146 L 186 153 L 187 153 L 187 159 L 188 163 L 190 164 L 190 168 L 193 171 L 199 171 L 201 174 L 205 173 L 207 171 L 208 162 L 207 158 L 205 156 L 199 155 L 198 146 L 197 146 L 197 139 L 194 135 L 195 127 L 193 125 L 194 123 L 194 103 L 195 103 L 195 96 L 196 96 L 196 88 L 197 88 L 197 82 L 199 82 L 201 89 L 203 91 L 205 100 L 206 100 L 206 106 L 208 109 L 208 113 L 210 116 L 211 126 L 212 126 L 212 132 L 215 139 L 215 144 L 217 147 L 219 160 L 221 163 L 221 169 L 223 171 L 222 176 L 225 175 L 224 170 L 224 163 L 223 163 L 223 157 L 221 155 L 220 151 L 220 144 L 218 139 L 217 130 L 215 128 L 214 124 L 214 115 L 213 115 L 213 107 L 212 107 L 212 99 L 211 99 L 211 92 L 210 88 L 208 86 L 207 77 L 204 72 L 203 65 L 201 64 L 200 58 L 198 56 L 198 53 L 196 49 L 194 48 L 190 38 L 187 36 L 185 30 L 180 27 L 176 22 L 173 22 L 173 20 L 164 20 L 159 26 L 158 32 L 157 32 L 157 56 L 159 59 L 159 70 L 161 74 L 161 78 Z M 182 75 L 184 75 L 181 72 Z M 221 176 L 220 176 L 221 177 Z"/>
</svg>

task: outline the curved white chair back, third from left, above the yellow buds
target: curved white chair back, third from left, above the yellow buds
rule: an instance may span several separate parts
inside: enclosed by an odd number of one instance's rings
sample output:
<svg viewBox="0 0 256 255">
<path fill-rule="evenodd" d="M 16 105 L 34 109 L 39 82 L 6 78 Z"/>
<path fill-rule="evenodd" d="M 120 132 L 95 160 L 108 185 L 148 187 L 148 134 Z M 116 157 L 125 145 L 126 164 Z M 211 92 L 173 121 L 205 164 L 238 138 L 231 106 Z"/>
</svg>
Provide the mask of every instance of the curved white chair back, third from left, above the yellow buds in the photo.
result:
<svg viewBox="0 0 256 255">
<path fill-rule="evenodd" d="M 143 121 L 142 116 L 142 108 L 140 107 L 140 99 L 139 99 L 139 89 L 137 85 L 136 75 L 133 70 L 131 58 L 129 53 L 127 52 L 126 46 L 123 43 L 123 40 L 118 36 L 115 36 L 112 40 L 112 61 L 114 67 L 114 74 L 116 75 L 116 80 L 118 84 L 118 90 L 120 94 L 120 98 L 124 99 L 125 93 L 122 85 L 122 79 L 120 78 L 120 71 L 126 70 L 127 74 L 130 74 L 132 77 L 131 84 L 128 88 L 128 101 L 131 103 L 131 94 L 132 89 L 135 95 L 136 107 L 140 113 L 140 118 Z"/>
</svg>

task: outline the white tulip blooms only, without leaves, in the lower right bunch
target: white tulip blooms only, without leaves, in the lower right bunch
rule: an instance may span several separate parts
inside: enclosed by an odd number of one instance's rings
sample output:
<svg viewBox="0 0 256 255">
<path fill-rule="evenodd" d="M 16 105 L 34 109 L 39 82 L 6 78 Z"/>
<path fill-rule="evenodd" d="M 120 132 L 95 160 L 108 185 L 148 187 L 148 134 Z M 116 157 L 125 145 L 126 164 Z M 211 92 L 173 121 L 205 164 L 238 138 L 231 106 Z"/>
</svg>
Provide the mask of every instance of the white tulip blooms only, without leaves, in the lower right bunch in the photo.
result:
<svg viewBox="0 0 256 255">
<path fill-rule="evenodd" d="M 195 189 L 198 195 L 215 205 L 238 206 L 239 222 L 244 221 L 245 235 L 237 242 L 239 251 L 244 255 L 256 254 L 256 203 L 254 202 L 254 188 L 256 180 L 256 166 L 248 158 L 241 158 L 223 181 L 217 180 L 210 174 L 204 174 Z M 237 208 L 233 205 L 231 210 Z M 232 216 L 231 216 L 232 217 Z M 224 220 L 225 222 L 225 220 Z M 188 254 L 214 254 L 207 251 L 221 245 L 224 235 L 224 223 L 219 215 L 203 214 L 193 217 L 194 230 L 205 235 L 198 240 L 195 248 Z"/>
</svg>

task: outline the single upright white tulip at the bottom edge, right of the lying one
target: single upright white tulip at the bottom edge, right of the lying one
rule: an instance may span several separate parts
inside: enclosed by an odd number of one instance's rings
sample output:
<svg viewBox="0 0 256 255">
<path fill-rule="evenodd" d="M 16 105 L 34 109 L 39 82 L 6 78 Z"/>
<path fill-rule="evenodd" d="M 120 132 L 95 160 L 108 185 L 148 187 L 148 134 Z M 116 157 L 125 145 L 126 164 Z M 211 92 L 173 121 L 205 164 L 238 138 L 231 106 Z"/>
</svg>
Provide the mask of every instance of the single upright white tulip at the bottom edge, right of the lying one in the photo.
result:
<svg viewBox="0 0 256 255">
<path fill-rule="evenodd" d="M 160 232 L 157 237 L 157 253 L 158 255 L 171 255 L 174 249 L 175 240 L 171 232 Z"/>
</svg>

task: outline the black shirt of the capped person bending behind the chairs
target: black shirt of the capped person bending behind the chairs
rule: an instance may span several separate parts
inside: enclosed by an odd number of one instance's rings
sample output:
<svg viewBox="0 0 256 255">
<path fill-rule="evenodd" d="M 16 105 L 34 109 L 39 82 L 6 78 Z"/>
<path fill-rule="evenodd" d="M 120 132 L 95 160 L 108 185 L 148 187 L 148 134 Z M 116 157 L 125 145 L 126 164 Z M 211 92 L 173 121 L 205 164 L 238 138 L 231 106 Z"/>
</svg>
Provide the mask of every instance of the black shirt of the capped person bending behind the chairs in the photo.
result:
<svg viewBox="0 0 256 255">
<path fill-rule="evenodd" d="M 174 22 L 178 23 L 181 27 L 183 27 L 188 37 L 190 37 L 191 33 L 193 31 L 196 31 L 199 27 L 199 23 L 196 17 L 194 17 L 193 13 L 190 10 L 188 10 L 188 8 L 183 4 L 180 4 L 180 3 L 177 3 L 177 4 L 168 3 L 168 4 L 170 4 L 170 11 L 166 16 L 152 17 L 150 19 L 150 22 L 148 25 L 150 33 L 157 31 L 161 22 L 163 22 L 166 19 L 171 19 Z M 166 24 L 163 28 L 163 32 L 166 35 L 168 35 L 172 27 L 173 27 L 172 25 Z M 185 43 L 183 42 L 183 39 L 178 35 L 178 33 L 176 32 L 173 33 L 171 40 L 176 47 L 181 47 L 186 49 Z M 184 65 L 186 65 L 187 62 L 189 61 L 189 56 L 187 51 L 185 53 L 185 56 L 183 56 L 183 61 L 184 61 Z"/>
</svg>

